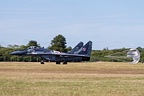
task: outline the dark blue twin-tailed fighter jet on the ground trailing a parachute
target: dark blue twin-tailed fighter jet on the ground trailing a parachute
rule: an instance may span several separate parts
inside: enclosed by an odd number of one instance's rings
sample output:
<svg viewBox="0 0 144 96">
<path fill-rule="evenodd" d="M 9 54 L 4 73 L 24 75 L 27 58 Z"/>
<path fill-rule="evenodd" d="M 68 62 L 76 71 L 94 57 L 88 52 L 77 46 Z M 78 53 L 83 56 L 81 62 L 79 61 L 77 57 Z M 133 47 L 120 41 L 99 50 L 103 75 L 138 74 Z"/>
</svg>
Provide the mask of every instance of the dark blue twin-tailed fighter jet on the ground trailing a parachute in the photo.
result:
<svg viewBox="0 0 144 96">
<path fill-rule="evenodd" d="M 14 51 L 10 54 L 18 56 L 40 56 L 43 58 L 41 64 L 44 64 L 44 60 L 56 62 L 56 64 L 60 64 L 61 62 L 67 64 L 67 62 L 89 61 L 91 51 L 92 42 L 89 41 L 84 46 L 83 42 L 78 43 L 70 52 L 67 53 L 31 46 L 26 50 Z"/>
</svg>

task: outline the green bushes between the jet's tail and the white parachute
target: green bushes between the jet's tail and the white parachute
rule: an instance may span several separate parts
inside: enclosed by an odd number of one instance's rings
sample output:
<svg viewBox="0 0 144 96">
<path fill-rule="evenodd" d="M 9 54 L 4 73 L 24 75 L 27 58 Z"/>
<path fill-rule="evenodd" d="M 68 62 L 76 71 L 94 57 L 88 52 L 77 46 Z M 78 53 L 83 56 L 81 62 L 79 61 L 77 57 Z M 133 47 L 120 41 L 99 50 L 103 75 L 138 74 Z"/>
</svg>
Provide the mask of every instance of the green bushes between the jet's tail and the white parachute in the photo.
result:
<svg viewBox="0 0 144 96">
<path fill-rule="evenodd" d="M 128 51 L 128 48 L 93 50 L 91 61 L 127 62 L 131 59 L 126 57 Z"/>
</svg>

